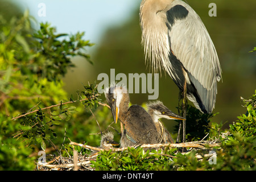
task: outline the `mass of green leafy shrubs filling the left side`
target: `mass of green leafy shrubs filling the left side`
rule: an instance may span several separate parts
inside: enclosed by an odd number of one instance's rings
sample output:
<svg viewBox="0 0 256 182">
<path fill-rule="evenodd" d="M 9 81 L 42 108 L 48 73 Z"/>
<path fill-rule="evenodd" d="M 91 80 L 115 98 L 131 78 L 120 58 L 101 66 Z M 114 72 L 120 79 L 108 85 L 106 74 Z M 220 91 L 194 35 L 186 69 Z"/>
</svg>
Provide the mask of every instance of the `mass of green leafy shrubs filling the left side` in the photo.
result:
<svg viewBox="0 0 256 182">
<path fill-rule="evenodd" d="M 31 19 L 28 11 L 10 21 L 0 16 L 0 169 L 5 170 L 34 169 L 35 158 L 28 158 L 32 152 L 62 143 L 62 126 L 74 121 L 77 108 L 84 106 L 65 101 L 61 77 L 74 66 L 71 56 L 92 63 L 81 51 L 93 45 L 82 40 L 84 32 L 56 34 L 48 23 L 34 32 Z M 92 90 L 95 85 L 88 86 L 88 92 Z M 95 107 L 96 94 L 80 97 Z"/>
</svg>

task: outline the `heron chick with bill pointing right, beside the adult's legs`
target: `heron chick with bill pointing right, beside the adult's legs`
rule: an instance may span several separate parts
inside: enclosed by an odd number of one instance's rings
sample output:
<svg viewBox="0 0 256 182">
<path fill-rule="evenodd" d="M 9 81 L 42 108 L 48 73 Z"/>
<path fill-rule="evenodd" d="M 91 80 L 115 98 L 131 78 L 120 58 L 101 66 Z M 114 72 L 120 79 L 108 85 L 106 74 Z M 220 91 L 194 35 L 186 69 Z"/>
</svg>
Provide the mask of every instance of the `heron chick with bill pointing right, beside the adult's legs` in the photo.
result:
<svg viewBox="0 0 256 182">
<path fill-rule="evenodd" d="M 158 143 L 174 143 L 171 134 L 168 132 L 163 123 L 159 120 L 160 118 L 166 119 L 179 119 L 185 120 L 185 118 L 173 113 L 168 109 L 163 102 L 149 102 L 147 104 L 148 113 L 151 115 L 152 120 L 155 123 L 156 129 L 158 130 Z"/>
</svg>

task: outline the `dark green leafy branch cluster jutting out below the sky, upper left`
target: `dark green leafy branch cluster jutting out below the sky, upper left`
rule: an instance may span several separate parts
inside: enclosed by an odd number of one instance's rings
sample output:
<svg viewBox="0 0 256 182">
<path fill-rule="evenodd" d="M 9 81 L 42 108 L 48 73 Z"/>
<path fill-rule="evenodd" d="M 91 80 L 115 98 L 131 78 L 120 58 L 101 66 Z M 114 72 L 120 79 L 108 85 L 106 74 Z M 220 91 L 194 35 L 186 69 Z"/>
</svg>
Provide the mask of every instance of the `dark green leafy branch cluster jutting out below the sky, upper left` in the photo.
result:
<svg viewBox="0 0 256 182">
<path fill-rule="evenodd" d="M 93 46 L 89 40 L 82 40 L 84 32 L 77 32 L 77 34 L 69 36 L 69 40 L 60 40 L 68 35 L 56 34 L 55 27 L 51 27 L 49 23 L 40 23 L 40 30 L 33 36 L 36 38 L 34 46 L 37 53 L 34 57 L 36 68 L 32 65 L 33 70 L 49 81 L 59 81 L 60 76 L 67 73 L 67 68 L 75 66 L 69 56 L 85 57 L 92 64 L 90 56 L 81 51 L 86 46 Z"/>
</svg>

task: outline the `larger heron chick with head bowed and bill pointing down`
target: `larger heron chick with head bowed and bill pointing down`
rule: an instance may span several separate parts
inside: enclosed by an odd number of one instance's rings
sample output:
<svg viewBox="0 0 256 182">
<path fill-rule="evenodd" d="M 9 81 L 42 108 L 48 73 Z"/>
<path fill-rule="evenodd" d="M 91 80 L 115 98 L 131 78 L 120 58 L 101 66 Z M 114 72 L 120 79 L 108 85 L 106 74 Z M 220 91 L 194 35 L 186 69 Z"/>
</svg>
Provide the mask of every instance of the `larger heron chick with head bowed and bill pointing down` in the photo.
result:
<svg viewBox="0 0 256 182">
<path fill-rule="evenodd" d="M 114 122 L 118 119 L 123 125 L 120 147 L 136 144 L 157 143 L 157 130 L 150 115 L 143 107 L 129 107 L 130 97 L 127 89 L 112 85 L 105 90 L 105 97 L 112 110 Z"/>
</svg>

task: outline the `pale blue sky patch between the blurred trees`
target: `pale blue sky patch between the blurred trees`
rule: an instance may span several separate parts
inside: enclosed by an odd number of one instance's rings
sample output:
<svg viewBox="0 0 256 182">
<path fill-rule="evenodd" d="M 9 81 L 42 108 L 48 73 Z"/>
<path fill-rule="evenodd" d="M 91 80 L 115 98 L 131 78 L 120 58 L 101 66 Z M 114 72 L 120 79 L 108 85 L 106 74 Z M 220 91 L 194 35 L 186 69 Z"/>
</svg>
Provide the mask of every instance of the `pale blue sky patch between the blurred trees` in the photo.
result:
<svg viewBox="0 0 256 182">
<path fill-rule="evenodd" d="M 14 2 L 20 4 L 23 9 L 28 9 L 38 23 L 50 22 L 59 33 L 75 34 L 78 31 L 85 31 L 85 39 L 97 43 L 106 27 L 125 22 L 141 1 L 14 0 Z"/>
</svg>

